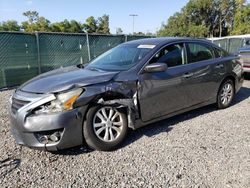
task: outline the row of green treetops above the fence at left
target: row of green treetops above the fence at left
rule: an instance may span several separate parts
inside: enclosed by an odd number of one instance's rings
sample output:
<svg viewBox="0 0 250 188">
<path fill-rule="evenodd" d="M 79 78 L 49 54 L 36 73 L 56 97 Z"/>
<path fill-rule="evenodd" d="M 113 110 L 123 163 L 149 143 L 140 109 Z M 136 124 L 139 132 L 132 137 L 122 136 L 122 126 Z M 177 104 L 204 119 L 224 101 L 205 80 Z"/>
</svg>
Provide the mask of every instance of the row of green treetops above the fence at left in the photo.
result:
<svg viewBox="0 0 250 188">
<path fill-rule="evenodd" d="M 16 21 L 9 20 L 0 23 L 0 31 L 20 31 L 23 29 L 25 32 L 65 32 L 65 33 L 101 33 L 110 34 L 109 29 L 109 16 L 103 15 L 95 19 L 90 16 L 86 19 L 84 24 L 76 20 L 65 19 L 62 22 L 51 23 L 46 18 L 39 16 L 36 11 L 26 11 L 23 13 L 27 17 L 27 21 L 22 22 L 21 26 Z"/>
</svg>

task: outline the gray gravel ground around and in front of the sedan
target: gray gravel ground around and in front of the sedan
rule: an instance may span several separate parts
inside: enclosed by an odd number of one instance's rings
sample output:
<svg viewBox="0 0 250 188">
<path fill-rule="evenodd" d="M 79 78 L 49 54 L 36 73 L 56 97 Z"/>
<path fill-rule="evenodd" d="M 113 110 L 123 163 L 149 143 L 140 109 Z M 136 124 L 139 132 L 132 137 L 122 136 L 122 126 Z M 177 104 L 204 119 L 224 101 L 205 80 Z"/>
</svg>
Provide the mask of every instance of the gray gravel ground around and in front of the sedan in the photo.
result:
<svg viewBox="0 0 250 188">
<path fill-rule="evenodd" d="M 250 81 L 230 108 L 211 105 L 130 131 L 114 152 L 16 145 L 11 93 L 0 93 L 0 187 L 250 187 Z"/>
</svg>

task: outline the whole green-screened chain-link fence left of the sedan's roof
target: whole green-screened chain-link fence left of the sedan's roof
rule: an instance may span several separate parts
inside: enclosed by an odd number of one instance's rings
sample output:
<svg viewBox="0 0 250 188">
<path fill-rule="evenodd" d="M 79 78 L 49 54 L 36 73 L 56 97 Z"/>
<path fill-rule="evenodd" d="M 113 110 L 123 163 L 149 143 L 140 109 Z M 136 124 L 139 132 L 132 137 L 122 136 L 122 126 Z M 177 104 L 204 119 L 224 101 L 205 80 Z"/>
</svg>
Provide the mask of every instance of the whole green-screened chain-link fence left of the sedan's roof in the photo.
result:
<svg viewBox="0 0 250 188">
<path fill-rule="evenodd" d="M 0 88 L 59 67 L 84 64 L 126 41 L 149 36 L 0 32 Z"/>
</svg>

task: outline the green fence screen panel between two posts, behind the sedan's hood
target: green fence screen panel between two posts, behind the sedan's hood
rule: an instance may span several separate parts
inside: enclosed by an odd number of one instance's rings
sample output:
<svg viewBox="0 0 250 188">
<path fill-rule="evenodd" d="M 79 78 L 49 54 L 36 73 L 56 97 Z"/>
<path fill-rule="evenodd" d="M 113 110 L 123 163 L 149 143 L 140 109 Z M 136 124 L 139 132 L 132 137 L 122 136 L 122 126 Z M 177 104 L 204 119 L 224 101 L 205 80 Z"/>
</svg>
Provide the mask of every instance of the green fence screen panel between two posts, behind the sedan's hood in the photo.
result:
<svg viewBox="0 0 250 188">
<path fill-rule="evenodd" d="M 38 40 L 41 73 L 88 61 L 85 35 L 41 33 Z"/>
</svg>

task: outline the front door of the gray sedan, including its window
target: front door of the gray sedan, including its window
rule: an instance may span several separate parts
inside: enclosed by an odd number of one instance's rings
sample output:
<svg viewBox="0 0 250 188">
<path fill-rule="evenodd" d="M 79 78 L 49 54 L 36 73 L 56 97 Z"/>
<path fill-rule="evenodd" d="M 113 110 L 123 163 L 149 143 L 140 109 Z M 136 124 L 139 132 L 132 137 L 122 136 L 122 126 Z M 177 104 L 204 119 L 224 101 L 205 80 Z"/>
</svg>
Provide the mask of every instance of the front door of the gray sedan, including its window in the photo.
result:
<svg viewBox="0 0 250 188">
<path fill-rule="evenodd" d="M 183 76 L 187 72 L 183 43 L 161 49 L 149 62 L 166 63 L 165 72 L 142 73 L 139 76 L 139 103 L 144 122 L 187 107 Z"/>
</svg>

